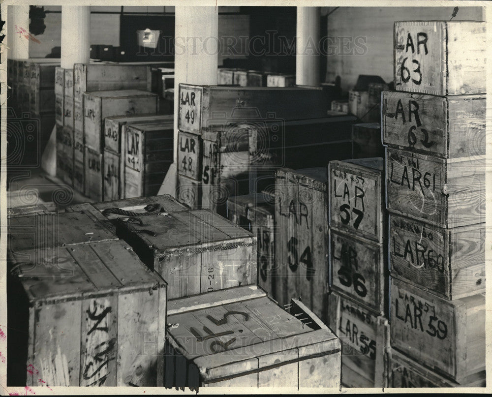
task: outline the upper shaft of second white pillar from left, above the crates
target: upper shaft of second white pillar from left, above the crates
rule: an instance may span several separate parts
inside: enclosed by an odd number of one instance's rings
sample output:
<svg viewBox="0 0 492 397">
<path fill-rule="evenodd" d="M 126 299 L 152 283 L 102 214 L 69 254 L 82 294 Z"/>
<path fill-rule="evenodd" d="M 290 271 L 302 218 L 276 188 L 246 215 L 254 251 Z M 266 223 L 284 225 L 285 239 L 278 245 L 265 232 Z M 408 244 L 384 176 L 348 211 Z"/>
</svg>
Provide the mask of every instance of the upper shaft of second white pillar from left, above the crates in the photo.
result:
<svg viewBox="0 0 492 397">
<path fill-rule="evenodd" d="M 62 59 L 60 66 L 73 68 L 74 63 L 89 63 L 91 7 L 62 5 Z"/>
</svg>

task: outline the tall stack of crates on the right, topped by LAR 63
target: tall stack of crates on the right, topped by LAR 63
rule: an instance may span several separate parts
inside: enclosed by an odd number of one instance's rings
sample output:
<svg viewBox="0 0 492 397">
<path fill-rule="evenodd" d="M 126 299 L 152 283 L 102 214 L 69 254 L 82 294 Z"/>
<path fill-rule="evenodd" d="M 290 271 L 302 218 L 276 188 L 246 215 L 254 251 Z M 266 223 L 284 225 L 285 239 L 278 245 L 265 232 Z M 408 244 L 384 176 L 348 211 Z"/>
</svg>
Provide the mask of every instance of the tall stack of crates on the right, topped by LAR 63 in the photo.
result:
<svg viewBox="0 0 492 397">
<path fill-rule="evenodd" d="M 485 383 L 485 22 L 395 23 L 390 385 Z"/>
</svg>

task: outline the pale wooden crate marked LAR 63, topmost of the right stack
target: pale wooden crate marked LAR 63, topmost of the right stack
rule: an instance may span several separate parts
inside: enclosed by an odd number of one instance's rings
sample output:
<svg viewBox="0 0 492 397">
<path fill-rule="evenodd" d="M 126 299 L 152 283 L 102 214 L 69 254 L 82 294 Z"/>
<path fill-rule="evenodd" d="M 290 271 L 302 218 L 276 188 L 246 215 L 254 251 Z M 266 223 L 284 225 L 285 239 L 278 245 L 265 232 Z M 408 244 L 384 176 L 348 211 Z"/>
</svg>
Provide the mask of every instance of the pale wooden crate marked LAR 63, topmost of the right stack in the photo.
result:
<svg viewBox="0 0 492 397">
<path fill-rule="evenodd" d="M 394 26 L 397 91 L 431 95 L 486 92 L 486 23 L 401 21 Z"/>
</svg>

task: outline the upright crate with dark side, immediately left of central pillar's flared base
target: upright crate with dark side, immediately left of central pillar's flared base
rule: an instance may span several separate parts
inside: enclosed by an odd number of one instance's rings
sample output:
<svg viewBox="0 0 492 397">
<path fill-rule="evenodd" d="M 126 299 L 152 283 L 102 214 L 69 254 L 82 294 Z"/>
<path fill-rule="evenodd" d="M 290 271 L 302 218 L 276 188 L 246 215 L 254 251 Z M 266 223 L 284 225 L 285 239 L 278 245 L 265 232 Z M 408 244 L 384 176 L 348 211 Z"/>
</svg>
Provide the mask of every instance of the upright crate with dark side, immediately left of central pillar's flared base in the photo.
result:
<svg viewBox="0 0 492 397">
<path fill-rule="evenodd" d="M 173 162 L 173 122 L 126 124 L 122 136 L 124 198 L 156 195 Z"/>
</svg>

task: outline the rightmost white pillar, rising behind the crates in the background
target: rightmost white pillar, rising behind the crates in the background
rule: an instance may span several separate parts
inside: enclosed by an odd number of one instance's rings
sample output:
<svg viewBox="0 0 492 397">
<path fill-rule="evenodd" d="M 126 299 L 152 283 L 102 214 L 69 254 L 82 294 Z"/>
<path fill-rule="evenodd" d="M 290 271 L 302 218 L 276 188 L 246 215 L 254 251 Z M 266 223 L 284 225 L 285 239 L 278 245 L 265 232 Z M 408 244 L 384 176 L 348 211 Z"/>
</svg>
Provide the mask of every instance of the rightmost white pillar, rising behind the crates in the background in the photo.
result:
<svg viewBox="0 0 492 397">
<path fill-rule="evenodd" d="M 320 7 L 297 7 L 296 84 L 319 86 Z"/>
</svg>

